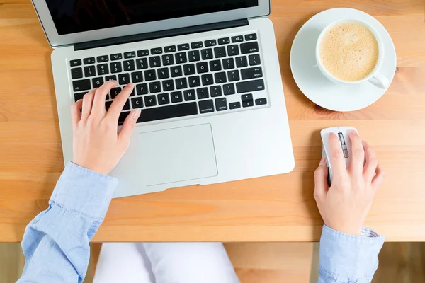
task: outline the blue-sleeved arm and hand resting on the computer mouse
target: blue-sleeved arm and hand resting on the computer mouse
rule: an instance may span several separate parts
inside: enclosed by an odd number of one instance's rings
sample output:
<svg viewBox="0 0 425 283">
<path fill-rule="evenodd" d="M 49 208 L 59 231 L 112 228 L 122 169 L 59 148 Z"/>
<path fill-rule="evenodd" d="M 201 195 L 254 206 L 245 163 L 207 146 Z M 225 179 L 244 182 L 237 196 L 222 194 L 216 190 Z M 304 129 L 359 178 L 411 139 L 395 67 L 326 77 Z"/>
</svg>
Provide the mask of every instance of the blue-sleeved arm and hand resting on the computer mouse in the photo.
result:
<svg viewBox="0 0 425 283">
<path fill-rule="evenodd" d="M 352 161 L 345 168 L 338 137 L 329 134 L 334 180 L 327 184 L 322 159 L 314 173 L 314 197 L 325 225 L 320 238 L 318 283 L 370 283 L 378 268 L 384 237 L 363 227 L 384 173 L 375 153 L 351 132 Z"/>
</svg>

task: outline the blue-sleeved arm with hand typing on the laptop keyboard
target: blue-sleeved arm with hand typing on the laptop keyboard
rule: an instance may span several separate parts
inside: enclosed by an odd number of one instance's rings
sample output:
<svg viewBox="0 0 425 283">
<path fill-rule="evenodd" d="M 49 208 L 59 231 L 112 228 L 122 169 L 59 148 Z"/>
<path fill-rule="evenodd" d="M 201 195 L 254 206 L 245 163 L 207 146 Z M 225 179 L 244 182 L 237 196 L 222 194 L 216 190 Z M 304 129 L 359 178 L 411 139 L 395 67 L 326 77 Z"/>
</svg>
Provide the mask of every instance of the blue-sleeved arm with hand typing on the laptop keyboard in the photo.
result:
<svg viewBox="0 0 425 283">
<path fill-rule="evenodd" d="M 26 227 L 26 265 L 19 283 L 77 283 L 86 276 L 89 242 L 118 183 L 107 174 L 127 149 L 140 115 L 140 110 L 129 115 L 117 134 L 118 116 L 133 86 L 126 86 L 106 112 L 106 94 L 116 84 L 107 82 L 90 91 L 72 108 L 74 163 L 67 164 L 57 181 L 49 207 Z"/>
</svg>

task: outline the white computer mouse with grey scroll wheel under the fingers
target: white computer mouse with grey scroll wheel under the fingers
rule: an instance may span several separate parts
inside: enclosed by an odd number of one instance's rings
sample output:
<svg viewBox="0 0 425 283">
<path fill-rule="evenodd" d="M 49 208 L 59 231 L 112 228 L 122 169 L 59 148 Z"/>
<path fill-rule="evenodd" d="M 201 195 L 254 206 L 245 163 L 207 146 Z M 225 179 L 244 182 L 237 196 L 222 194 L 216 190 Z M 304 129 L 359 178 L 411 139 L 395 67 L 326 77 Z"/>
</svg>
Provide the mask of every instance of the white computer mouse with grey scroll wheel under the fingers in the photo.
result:
<svg viewBox="0 0 425 283">
<path fill-rule="evenodd" d="M 327 166 L 329 168 L 329 174 L 328 174 L 328 183 L 331 185 L 332 183 L 332 166 L 329 162 L 331 159 L 331 151 L 329 149 L 329 134 L 333 132 L 336 134 L 336 137 L 339 137 L 339 143 L 341 144 L 341 151 L 344 154 L 344 159 L 346 162 L 346 168 L 350 166 L 351 164 L 351 140 L 350 137 L 348 137 L 348 134 L 355 130 L 357 132 L 356 128 L 353 127 L 331 127 L 322 129 L 320 131 L 320 135 L 322 136 L 322 144 L 323 144 L 323 150 L 322 150 L 322 157 L 326 157 Z M 358 132 L 357 132 L 358 133 Z"/>
</svg>

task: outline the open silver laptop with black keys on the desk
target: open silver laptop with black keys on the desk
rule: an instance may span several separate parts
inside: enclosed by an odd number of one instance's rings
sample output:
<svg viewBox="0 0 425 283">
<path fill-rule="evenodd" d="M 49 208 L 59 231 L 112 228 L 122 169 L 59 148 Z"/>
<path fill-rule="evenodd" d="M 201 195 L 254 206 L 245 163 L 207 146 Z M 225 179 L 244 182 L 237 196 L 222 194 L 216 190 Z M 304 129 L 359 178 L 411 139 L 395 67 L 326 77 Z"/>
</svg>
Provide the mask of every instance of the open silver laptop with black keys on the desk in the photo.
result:
<svg viewBox="0 0 425 283">
<path fill-rule="evenodd" d="M 71 105 L 105 81 L 135 83 L 142 114 L 111 176 L 114 197 L 294 168 L 268 0 L 33 0 L 54 48 L 64 161 Z"/>
</svg>

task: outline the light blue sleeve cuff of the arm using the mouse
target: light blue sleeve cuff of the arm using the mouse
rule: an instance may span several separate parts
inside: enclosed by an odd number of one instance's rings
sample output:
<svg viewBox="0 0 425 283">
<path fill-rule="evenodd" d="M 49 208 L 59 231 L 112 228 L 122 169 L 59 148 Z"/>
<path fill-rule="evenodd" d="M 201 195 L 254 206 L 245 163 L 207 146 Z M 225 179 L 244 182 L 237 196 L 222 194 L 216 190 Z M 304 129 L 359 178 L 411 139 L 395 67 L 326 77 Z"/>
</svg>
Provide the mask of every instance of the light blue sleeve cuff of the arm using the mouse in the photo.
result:
<svg viewBox="0 0 425 283">
<path fill-rule="evenodd" d="M 324 225 L 317 283 L 370 283 L 378 268 L 378 254 L 384 240 L 365 227 L 361 236 L 353 236 Z"/>
</svg>

